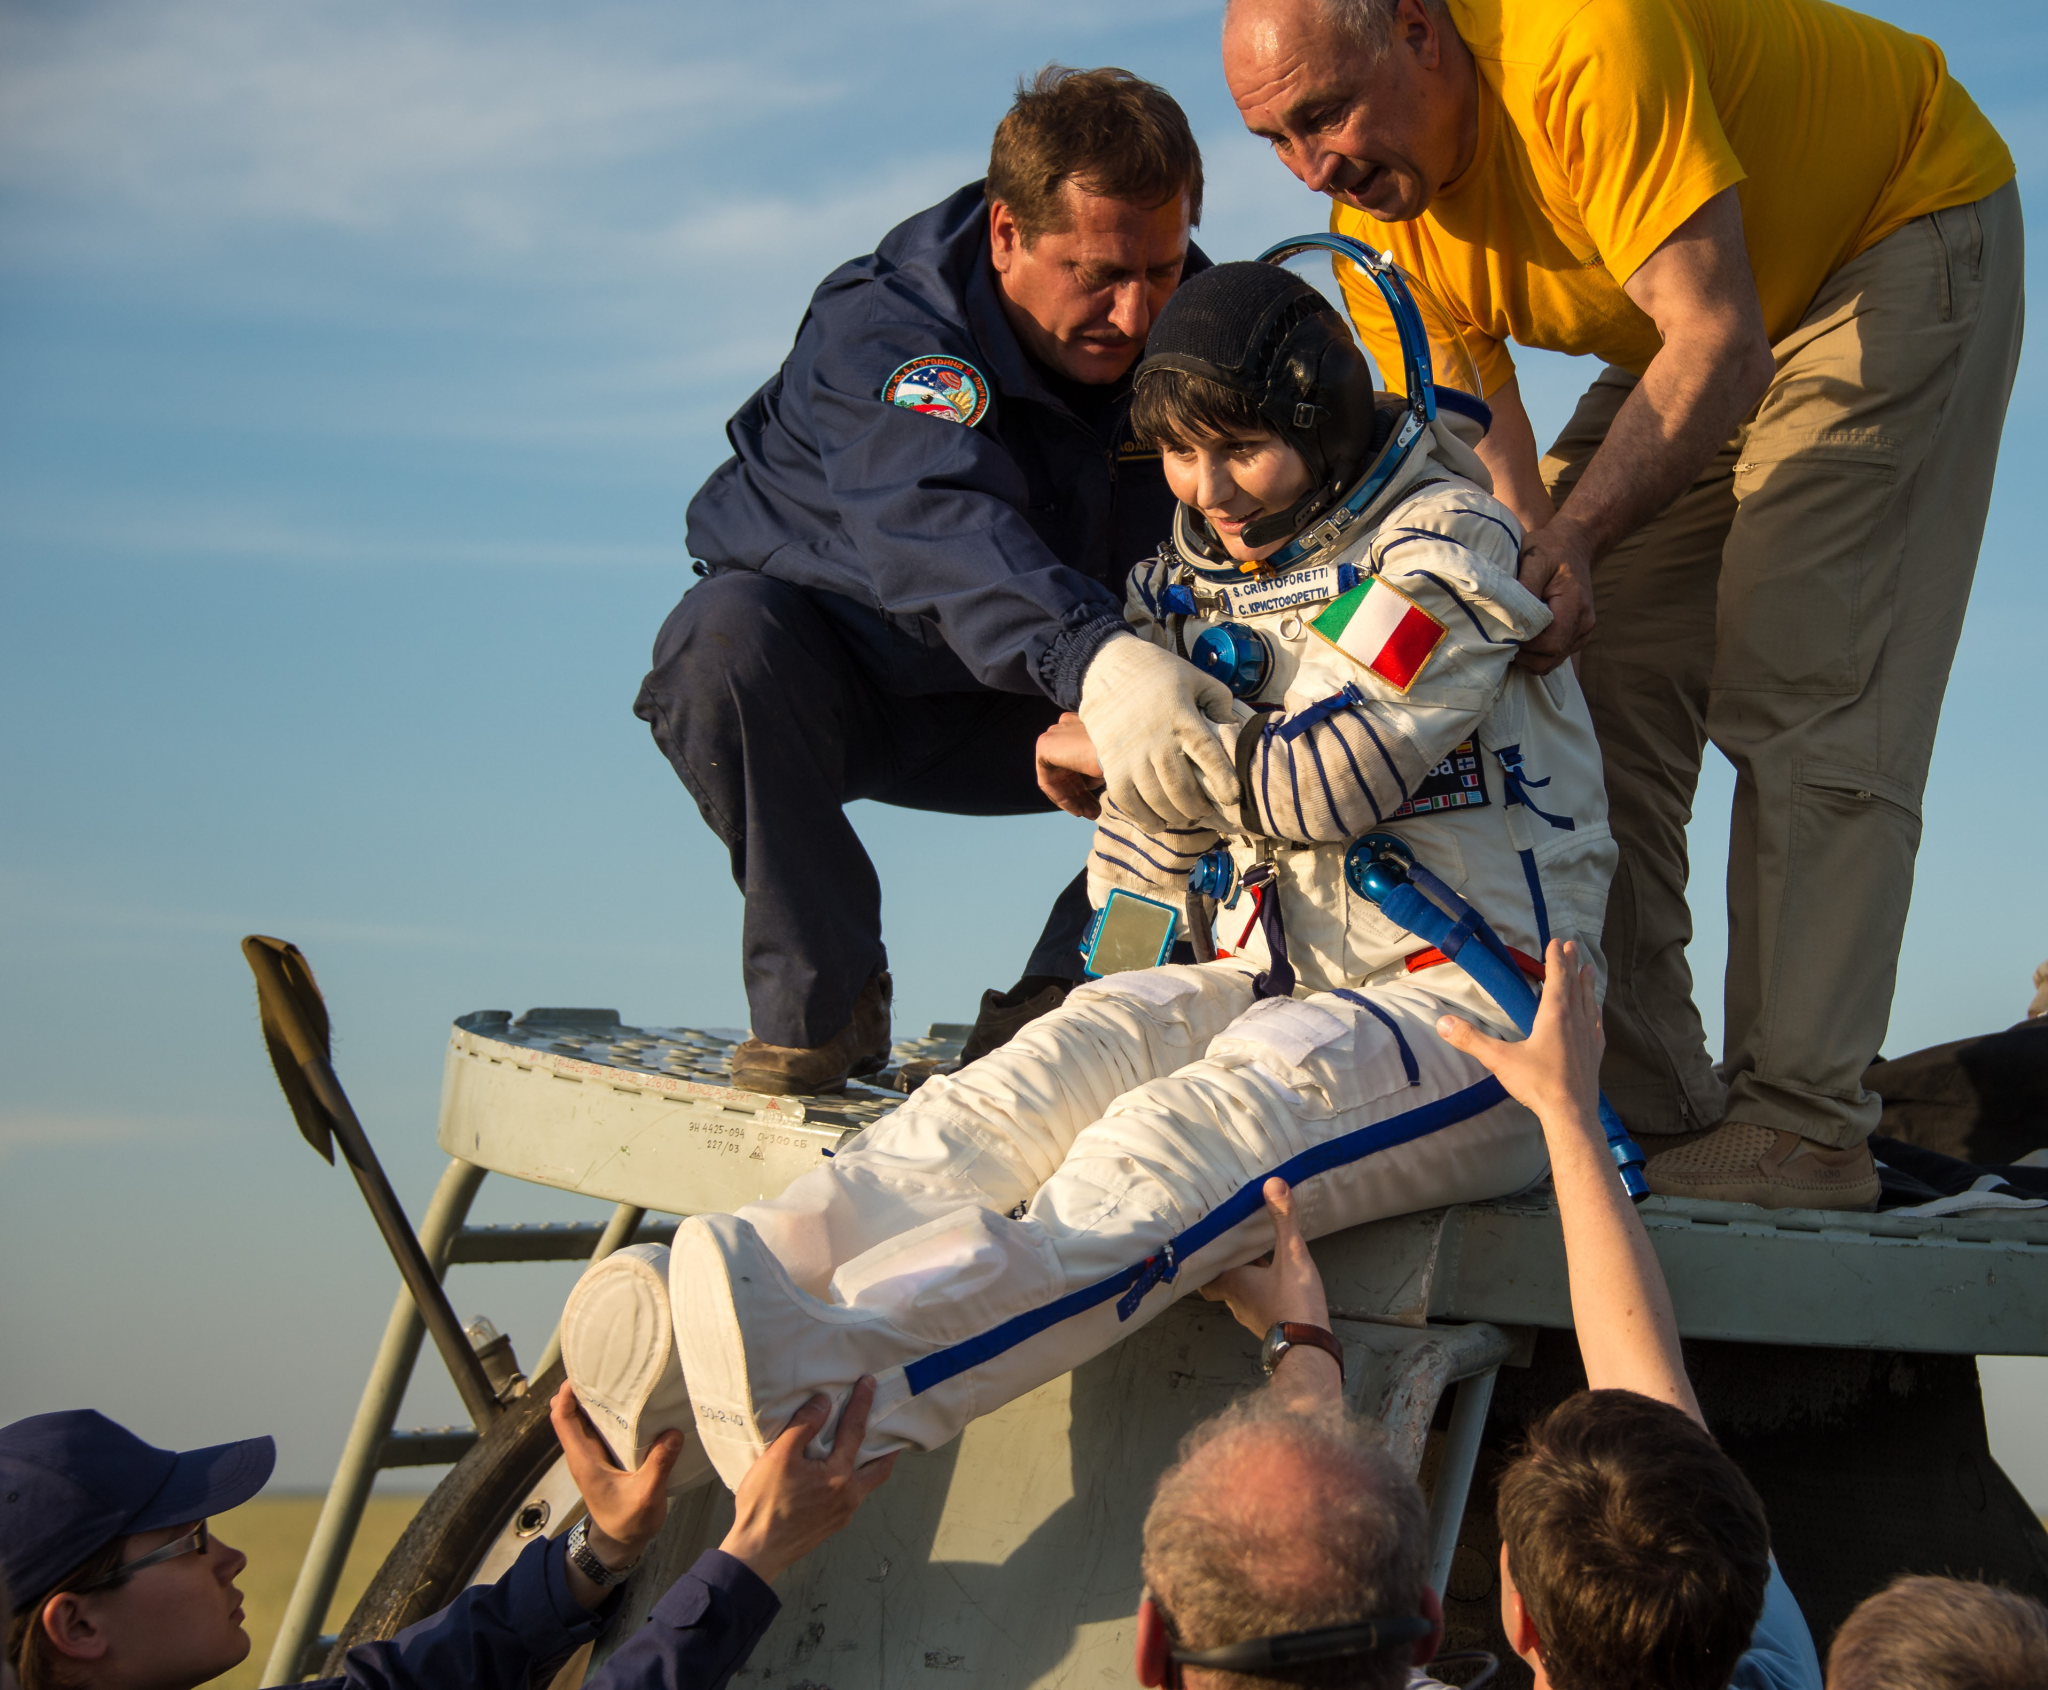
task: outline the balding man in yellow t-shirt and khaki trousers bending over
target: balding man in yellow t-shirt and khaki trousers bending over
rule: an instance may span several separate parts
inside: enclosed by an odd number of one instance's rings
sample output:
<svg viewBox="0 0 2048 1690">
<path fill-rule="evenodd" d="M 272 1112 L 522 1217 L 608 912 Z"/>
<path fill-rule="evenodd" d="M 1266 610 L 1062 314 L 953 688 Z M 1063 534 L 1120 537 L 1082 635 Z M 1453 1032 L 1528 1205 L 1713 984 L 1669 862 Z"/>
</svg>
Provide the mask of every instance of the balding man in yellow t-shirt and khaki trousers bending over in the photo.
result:
<svg viewBox="0 0 2048 1690">
<path fill-rule="evenodd" d="M 1931 41 L 1823 0 L 1231 0 L 1223 68 L 1477 363 L 1554 612 L 1522 662 L 1577 653 L 1606 756 L 1604 1080 L 1665 1135 L 1651 1186 L 1870 1207 L 1862 1071 L 2019 358 L 2005 143 Z M 1608 365 L 1540 463 L 1509 340 Z M 1686 967 L 1708 740 L 1718 1069 Z"/>
</svg>

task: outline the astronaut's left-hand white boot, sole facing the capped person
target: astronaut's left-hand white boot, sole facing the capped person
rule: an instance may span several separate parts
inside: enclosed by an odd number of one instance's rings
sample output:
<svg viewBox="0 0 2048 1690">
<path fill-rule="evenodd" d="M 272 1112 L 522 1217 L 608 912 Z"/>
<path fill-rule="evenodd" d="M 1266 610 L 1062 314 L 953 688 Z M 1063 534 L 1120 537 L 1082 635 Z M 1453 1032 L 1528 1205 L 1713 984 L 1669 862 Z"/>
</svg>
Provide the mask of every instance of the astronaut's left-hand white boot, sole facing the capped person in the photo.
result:
<svg viewBox="0 0 2048 1690">
<path fill-rule="evenodd" d="M 612 1461 L 639 1469 L 664 1432 L 682 1432 L 670 1493 L 711 1477 L 668 1307 L 668 1248 L 631 1243 L 590 1266 L 561 1311 L 561 1362 Z"/>
</svg>

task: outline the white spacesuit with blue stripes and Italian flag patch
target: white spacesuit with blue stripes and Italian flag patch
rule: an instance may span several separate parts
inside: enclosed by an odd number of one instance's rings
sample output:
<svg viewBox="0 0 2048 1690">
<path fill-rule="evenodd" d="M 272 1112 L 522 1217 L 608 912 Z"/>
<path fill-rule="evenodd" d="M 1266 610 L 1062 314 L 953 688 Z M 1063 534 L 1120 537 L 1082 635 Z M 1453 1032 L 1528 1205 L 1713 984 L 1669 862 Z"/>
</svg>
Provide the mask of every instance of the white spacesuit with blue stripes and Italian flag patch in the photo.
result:
<svg viewBox="0 0 2048 1690">
<path fill-rule="evenodd" d="M 1264 643 L 1247 690 L 1278 709 L 1217 727 L 1241 801 L 1149 834 L 1108 807 L 1090 858 L 1098 903 L 1200 910 L 1190 869 L 1227 848 L 1217 961 L 1077 987 L 782 1196 L 678 1231 L 682 1372 L 727 1483 L 864 1372 L 864 1454 L 946 1442 L 1268 1250 L 1272 1174 L 1311 1237 L 1542 1176 L 1534 1116 L 1434 1030 L 1448 1010 L 1516 1037 L 1509 1016 L 1346 879 L 1354 840 L 1393 834 L 1538 975 L 1550 936 L 1599 957 L 1599 752 L 1569 666 L 1513 668 L 1548 625 L 1520 526 L 1450 422 L 1403 434 L 1321 549 L 1237 572 L 1184 510 L 1130 580 L 1147 641 L 1188 653 L 1227 623 L 1233 649 Z"/>
</svg>

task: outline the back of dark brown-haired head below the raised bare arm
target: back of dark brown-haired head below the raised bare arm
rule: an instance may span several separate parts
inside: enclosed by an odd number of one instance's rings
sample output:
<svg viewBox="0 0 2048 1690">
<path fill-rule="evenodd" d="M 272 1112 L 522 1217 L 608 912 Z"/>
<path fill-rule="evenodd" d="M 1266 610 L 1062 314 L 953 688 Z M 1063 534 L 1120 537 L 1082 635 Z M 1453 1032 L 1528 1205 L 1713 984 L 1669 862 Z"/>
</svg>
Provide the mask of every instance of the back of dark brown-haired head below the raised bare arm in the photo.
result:
<svg viewBox="0 0 2048 1690">
<path fill-rule="evenodd" d="M 1769 1581 L 1763 1502 L 1688 1416 L 1567 1397 L 1501 1477 L 1507 1569 L 1556 1690 L 1724 1690 Z"/>
</svg>

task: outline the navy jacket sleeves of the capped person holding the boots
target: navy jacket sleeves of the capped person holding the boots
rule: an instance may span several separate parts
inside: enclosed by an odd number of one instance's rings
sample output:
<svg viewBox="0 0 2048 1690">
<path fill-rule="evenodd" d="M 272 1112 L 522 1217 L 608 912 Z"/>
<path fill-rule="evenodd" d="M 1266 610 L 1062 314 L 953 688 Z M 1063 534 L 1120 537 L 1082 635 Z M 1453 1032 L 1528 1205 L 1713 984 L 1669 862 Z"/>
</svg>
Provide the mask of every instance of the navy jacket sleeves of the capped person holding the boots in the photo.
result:
<svg viewBox="0 0 2048 1690">
<path fill-rule="evenodd" d="M 567 1536 L 539 1538 L 498 1583 L 465 1590 L 446 1608 L 387 1643 L 358 1643 L 342 1678 L 313 1690 L 530 1690 L 618 1608 L 596 1612 L 569 1594 Z M 586 1690 L 721 1690 L 782 1604 L 743 1561 L 719 1549 L 696 1557 L 647 1624 L 590 1678 Z"/>
</svg>

